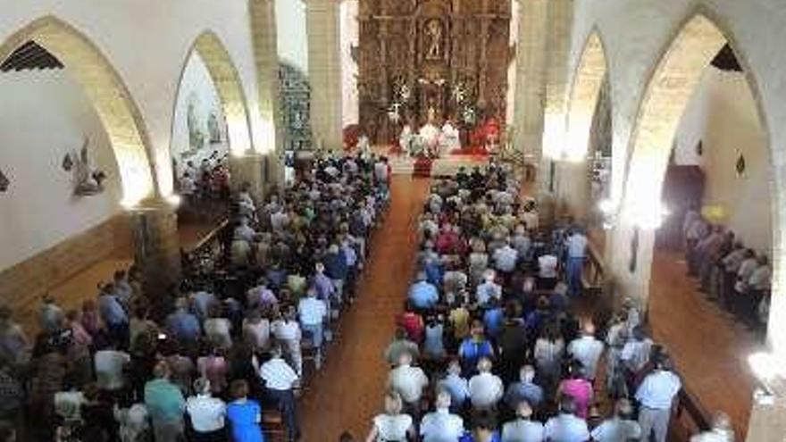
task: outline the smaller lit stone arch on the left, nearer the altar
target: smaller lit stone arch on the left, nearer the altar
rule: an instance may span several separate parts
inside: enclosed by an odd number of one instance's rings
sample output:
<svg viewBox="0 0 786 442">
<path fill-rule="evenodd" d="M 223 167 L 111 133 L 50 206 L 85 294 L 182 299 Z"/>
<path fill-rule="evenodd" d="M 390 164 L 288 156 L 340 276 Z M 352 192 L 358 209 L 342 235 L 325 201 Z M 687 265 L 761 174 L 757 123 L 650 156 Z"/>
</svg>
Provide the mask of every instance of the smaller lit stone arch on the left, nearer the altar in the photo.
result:
<svg viewBox="0 0 786 442">
<path fill-rule="evenodd" d="M 242 156 L 252 152 L 254 143 L 251 136 L 251 117 L 248 113 L 243 84 L 240 81 L 238 70 L 232 62 L 230 53 L 213 31 L 206 30 L 200 34 L 188 50 L 188 55 L 183 62 L 183 68 L 180 70 L 175 105 L 177 105 L 177 96 L 180 96 L 180 87 L 188 60 L 194 54 L 198 54 L 205 63 L 210 78 L 213 80 L 213 86 L 218 93 L 227 129 L 230 154 Z M 174 115 L 174 111 L 173 109 L 172 115 Z M 174 123 L 173 116 L 172 129 L 174 129 Z"/>
</svg>

